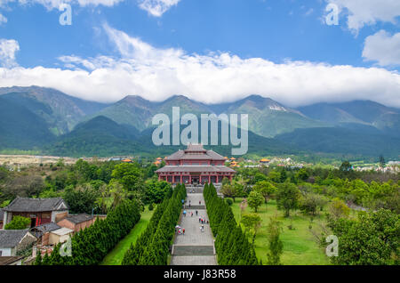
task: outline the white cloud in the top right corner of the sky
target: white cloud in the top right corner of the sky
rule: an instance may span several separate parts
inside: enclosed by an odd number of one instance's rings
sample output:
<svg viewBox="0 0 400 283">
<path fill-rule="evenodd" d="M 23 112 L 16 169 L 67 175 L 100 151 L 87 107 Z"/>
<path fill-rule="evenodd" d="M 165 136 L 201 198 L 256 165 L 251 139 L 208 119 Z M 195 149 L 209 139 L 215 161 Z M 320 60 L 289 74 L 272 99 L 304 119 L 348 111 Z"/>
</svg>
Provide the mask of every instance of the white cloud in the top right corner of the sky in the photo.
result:
<svg viewBox="0 0 400 283">
<path fill-rule="evenodd" d="M 337 4 L 340 11 L 348 11 L 348 28 L 359 30 L 365 25 L 374 25 L 378 21 L 396 22 L 400 16 L 399 0 L 326 0 Z"/>
</svg>

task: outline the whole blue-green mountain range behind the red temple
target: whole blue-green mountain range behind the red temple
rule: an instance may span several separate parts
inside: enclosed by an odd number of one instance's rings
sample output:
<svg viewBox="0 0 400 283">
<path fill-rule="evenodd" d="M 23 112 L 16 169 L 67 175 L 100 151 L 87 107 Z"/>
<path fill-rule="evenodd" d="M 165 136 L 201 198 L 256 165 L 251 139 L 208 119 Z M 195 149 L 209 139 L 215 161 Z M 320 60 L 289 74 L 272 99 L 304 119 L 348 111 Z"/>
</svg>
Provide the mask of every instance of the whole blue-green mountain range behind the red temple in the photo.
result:
<svg viewBox="0 0 400 283">
<path fill-rule="evenodd" d="M 317 103 L 288 108 L 260 95 L 204 104 L 174 95 L 148 101 L 128 95 L 105 104 L 39 86 L 0 88 L 0 150 L 38 150 L 57 156 L 164 155 L 180 147 L 156 147 L 151 119 L 186 113 L 249 114 L 249 154 L 334 154 L 399 158 L 400 109 L 374 101 Z M 228 155 L 230 147 L 213 146 Z"/>
</svg>

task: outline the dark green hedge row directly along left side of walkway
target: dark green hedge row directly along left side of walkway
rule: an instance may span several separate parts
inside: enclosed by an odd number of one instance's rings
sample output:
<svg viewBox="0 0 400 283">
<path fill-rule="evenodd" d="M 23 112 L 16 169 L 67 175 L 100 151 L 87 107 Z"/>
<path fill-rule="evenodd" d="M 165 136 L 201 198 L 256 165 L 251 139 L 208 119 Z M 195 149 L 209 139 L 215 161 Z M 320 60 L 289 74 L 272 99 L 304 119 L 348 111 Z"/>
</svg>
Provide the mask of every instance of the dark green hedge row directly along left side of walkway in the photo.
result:
<svg viewBox="0 0 400 283">
<path fill-rule="evenodd" d="M 181 200 L 186 198 L 185 185 L 179 184 L 170 198 L 156 207 L 146 230 L 135 245 L 126 251 L 123 265 L 166 265 L 175 225 L 182 208 Z"/>
</svg>

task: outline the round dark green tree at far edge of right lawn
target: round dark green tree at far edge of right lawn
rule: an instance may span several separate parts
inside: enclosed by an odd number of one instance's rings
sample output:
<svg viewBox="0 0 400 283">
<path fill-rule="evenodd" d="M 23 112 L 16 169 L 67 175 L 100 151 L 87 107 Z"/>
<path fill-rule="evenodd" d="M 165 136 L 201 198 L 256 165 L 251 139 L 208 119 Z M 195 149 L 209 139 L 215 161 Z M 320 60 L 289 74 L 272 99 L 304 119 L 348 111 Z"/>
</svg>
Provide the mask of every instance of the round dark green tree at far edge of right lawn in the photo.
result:
<svg viewBox="0 0 400 283">
<path fill-rule="evenodd" d="M 295 184 L 291 182 L 284 182 L 278 185 L 276 203 L 278 209 L 284 210 L 285 217 L 290 215 L 291 210 L 297 208 L 299 197 L 300 190 Z"/>
</svg>

